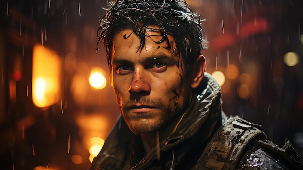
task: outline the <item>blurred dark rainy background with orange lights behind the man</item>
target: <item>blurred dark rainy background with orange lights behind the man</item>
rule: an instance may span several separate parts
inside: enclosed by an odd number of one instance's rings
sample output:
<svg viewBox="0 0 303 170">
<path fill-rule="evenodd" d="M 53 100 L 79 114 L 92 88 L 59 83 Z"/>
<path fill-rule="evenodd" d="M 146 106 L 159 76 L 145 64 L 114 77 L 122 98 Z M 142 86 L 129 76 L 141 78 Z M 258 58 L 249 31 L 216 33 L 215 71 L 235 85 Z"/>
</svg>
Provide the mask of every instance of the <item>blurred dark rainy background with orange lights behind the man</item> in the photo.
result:
<svg viewBox="0 0 303 170">
<path fill-rule="evenodd" d="M 303 1 L 187 0 L 227 115 L 303 160 Z M 1 0 L 2 170 L 85 170 L 120 114 L 103 46 L 106 0 Z"/>
</svg>

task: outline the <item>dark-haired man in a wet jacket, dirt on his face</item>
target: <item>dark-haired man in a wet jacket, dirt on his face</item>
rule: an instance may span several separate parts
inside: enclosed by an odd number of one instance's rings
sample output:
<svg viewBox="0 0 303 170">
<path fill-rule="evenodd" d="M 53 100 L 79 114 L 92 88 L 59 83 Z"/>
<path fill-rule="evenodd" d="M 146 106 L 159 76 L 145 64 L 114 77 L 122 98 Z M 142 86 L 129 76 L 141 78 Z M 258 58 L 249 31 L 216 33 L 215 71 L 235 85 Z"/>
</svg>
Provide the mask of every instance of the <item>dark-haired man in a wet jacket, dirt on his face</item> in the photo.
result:
<svg viewBox="0 0 303 170">
<path fill-rule="evenodd" d="M 205 73 L 200 18 L 182 0 L 117 0 L 101 18 L 121 117 L 91 170 L 303 169 L 257 124 L 227 118 Z"/>
</svg>

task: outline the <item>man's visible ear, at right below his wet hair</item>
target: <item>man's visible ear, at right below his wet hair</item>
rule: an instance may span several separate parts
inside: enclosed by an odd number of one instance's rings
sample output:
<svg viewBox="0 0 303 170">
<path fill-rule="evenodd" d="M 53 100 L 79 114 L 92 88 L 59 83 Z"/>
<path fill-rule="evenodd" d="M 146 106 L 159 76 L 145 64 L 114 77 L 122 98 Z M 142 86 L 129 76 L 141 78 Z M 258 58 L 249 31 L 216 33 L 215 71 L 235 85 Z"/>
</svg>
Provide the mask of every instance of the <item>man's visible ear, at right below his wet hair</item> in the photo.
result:
<svg viewBox="0 0 303 170">
<path fill-rule="evenodd" d="M 197 62 L 193 68 L 193 81 L 191 84 L 192 88 L 196 88 L 200 84 L 204 76 L 205 68 L 206 68 L 205 58 L 203 55 L 199 55 Z"/>
</svg>

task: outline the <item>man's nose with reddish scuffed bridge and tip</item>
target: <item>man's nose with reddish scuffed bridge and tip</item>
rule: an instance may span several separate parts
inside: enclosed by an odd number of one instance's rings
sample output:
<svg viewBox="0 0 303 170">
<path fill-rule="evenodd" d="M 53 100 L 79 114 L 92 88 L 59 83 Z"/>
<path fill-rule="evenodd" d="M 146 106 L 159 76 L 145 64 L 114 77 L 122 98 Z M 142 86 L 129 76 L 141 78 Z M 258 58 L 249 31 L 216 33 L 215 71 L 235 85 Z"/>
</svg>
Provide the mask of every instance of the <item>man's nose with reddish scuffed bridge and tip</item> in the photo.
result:
<svg viewBox="0 0 303 170">
<path fill-rule="evenodd" d="M 134 95 L 136 99 L 149 95 L 151 91 L 150 84 L 146 81 L 147 77 L 144 75 L 144 69 L 137 68 L 132 77 L 132 83 L 128 89 L 129 93 Z"/>
</svg>

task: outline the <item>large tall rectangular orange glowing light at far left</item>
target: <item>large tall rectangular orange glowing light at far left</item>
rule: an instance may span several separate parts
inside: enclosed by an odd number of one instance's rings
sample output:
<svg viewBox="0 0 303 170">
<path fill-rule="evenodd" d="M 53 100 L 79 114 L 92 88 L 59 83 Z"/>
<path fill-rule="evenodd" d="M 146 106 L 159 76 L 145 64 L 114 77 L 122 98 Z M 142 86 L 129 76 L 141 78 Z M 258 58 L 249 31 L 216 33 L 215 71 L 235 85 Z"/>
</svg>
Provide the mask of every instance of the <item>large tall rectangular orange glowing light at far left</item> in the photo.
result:
<svg viewBox="0 0 303 170">
<path fill-rule="evenodd" d="M 32 64 L 32 100 L 36 106 L 42 108 L 58 102 L 60 72 L 60 57 L 45 46 L 35 45 Z"/>
</svg>

